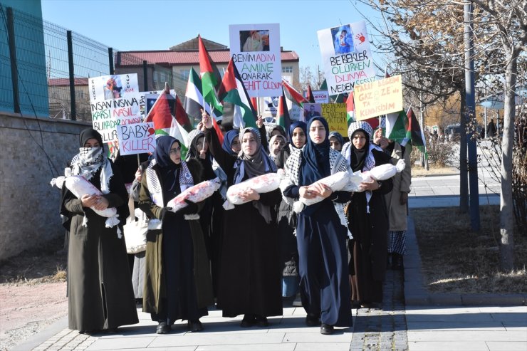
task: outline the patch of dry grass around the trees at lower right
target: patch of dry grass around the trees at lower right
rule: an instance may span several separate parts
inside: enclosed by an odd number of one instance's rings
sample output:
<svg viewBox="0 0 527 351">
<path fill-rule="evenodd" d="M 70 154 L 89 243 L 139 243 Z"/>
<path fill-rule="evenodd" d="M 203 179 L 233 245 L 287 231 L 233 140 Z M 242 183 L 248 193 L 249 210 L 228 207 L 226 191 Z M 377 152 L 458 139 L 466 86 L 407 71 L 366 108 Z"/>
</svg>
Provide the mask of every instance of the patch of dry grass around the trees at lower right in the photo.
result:
<svg viewBox="0 0 527 351">
<path fill-rule="evenodd" d="M 527 235 L 514 231 L 511 272 L 499 272 L 499 206 L 481 206 L 481 231 L 456 207 L 412 209 L 424 283 L 434 293 L 527 293 Z"/>
</svg>

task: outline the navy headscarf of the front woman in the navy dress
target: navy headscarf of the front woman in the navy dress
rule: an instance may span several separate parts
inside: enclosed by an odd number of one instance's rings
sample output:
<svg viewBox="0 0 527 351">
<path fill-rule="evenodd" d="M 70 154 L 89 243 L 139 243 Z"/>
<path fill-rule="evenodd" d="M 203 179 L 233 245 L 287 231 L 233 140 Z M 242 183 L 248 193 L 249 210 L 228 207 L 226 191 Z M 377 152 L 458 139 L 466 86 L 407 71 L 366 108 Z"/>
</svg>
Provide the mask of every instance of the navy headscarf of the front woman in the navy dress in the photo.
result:
<svg viewBox="0 0 527 351">
<path fill-rule="evenodd" d="M 329 164 L 329 127 L 324 117 L 313 117 L 308 122 L 308 131 L 315 120 L 322 123 L 325 128 L 325 139 L 320 144 L 315 144 L 309 134 L 307 135 L 306 146 L 302 150 L 302 162 L 300 174 L 298 175 L 298 185 L 311 185 L 314 182 L 328 177 L 331 173 Z"/>
</svg>

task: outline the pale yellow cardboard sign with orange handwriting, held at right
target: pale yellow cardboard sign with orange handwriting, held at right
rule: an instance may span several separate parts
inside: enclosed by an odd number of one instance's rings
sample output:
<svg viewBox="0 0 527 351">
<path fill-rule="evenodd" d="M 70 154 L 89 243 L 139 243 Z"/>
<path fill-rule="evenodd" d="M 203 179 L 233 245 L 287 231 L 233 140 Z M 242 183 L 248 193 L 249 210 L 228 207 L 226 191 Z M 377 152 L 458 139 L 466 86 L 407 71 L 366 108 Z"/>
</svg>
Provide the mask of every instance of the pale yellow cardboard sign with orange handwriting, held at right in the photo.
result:
<svg viewBox="0 0 527 351">
<path fill-rule="evenodd" d="M 355 85 L 353 98 L 356 120 L 399 112 L 402 110 L 401 75 Z"/>
</svg>

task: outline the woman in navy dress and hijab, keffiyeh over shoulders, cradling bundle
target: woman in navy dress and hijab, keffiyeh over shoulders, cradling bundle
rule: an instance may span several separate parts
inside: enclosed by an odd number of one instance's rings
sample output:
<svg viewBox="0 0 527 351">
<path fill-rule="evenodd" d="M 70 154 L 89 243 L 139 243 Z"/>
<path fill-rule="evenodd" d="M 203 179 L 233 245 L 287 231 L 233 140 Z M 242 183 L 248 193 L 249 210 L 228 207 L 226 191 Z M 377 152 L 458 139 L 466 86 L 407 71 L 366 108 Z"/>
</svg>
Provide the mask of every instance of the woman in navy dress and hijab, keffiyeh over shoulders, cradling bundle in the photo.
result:
<svg viewBox="0 0 527 351">
<path fill-rule="evenodd" d="M 347 171 L 344 157 L 329 145 L 328 122 L 313 117 L 308 123 L 308 141 L 293 150 L 286 162 L 286 179 L 281 184 L 284 197 L 323 197 L 298 214 L 296 239 L 302 305 L 308 326 L 322 325 L 322 334 L 332 334 L 333 326 L 350 327 L 350 285 L 346 253 L 346 226 L 343 203 L 350 192 L 332 192 L 311 184 L 335 172 Z M 320 320 L 320 321 L 319 321 Z"/>
</svg>

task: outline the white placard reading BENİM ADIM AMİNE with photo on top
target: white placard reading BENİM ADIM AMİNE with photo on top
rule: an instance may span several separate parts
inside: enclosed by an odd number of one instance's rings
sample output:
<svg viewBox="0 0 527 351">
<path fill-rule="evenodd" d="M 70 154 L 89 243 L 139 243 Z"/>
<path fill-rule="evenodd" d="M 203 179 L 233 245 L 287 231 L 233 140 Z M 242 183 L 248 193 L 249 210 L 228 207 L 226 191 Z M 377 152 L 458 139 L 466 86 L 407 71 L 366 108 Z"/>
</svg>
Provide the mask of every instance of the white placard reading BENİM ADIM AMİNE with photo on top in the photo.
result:
<svg viewBox="0 0 527 351">
<path fill-rule="evenodd" d="M 280 25 L 232 24 L 231 57 L 251 98 L 282 94 Z"/>
</svg>

